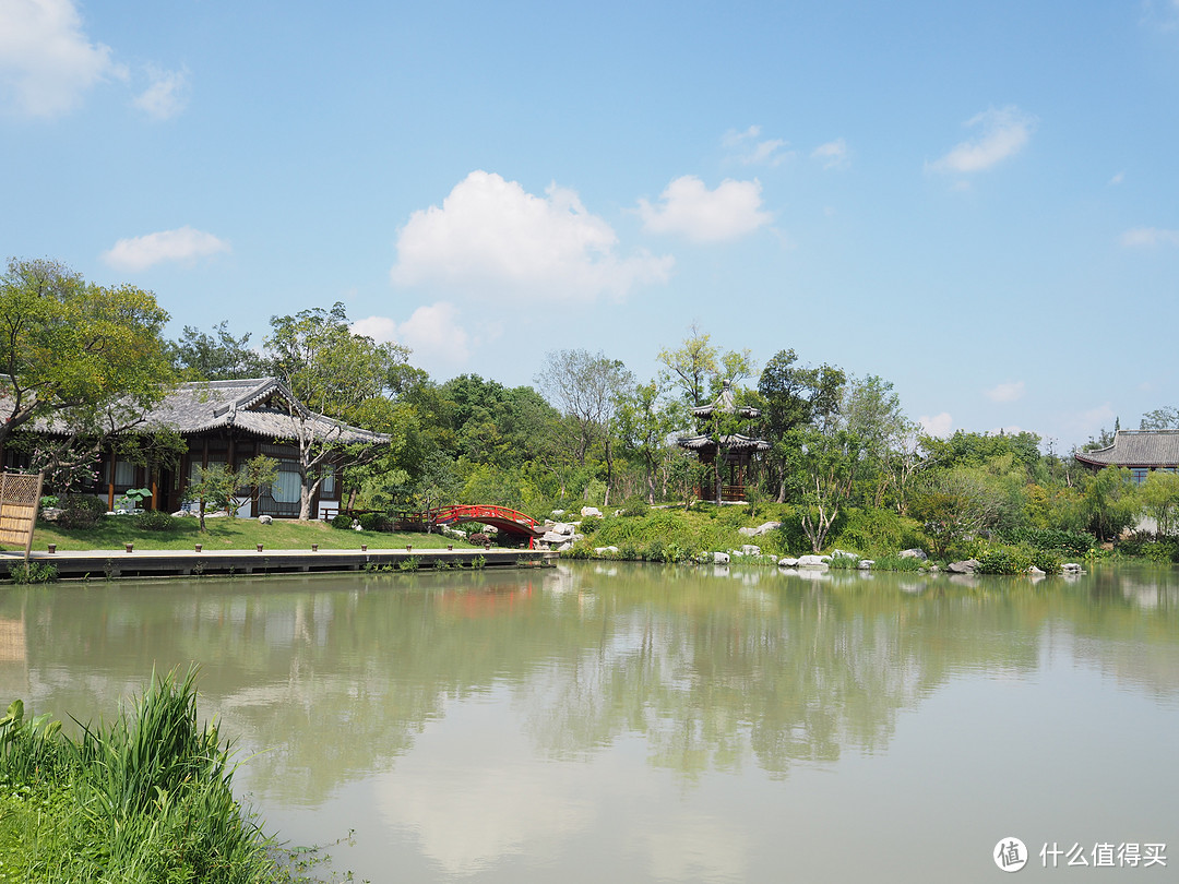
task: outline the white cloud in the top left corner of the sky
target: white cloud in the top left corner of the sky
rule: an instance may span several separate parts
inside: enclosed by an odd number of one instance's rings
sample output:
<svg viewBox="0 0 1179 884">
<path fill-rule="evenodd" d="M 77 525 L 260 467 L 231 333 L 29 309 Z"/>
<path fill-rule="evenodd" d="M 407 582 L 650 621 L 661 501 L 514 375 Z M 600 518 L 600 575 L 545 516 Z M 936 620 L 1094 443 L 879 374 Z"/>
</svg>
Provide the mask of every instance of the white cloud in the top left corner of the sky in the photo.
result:
<svg viewBox="0 0 1179 884">
<path fill-rule="evenodd" d="M 92 42 L 71 0 L 0 2 L 0 90 L 33 117 L 72 110 L 86 90 L 126 70 Z"/>
</svg>

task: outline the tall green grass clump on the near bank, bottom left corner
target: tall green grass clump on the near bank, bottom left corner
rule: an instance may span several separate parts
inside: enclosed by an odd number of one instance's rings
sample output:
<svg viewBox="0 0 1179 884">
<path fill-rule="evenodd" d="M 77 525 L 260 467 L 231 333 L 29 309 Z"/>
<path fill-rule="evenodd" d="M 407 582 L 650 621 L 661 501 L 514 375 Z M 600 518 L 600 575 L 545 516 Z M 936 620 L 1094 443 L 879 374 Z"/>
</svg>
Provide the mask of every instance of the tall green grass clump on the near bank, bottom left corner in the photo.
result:
<svg viewBox="0 0 1179 884">
<path fill-rule="evenodd" d="M 153 677 L 110 725 L 0 719 L 0 880 L 282 882 L 231 787 L 229 745 L 198 727 L 196 667 Z"/>
</svg>

